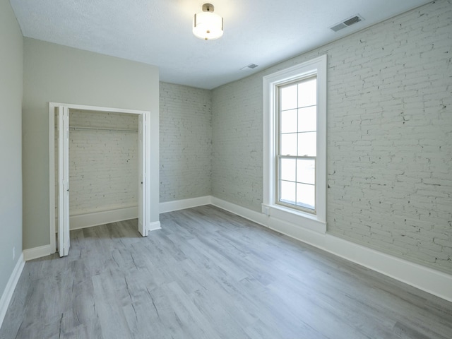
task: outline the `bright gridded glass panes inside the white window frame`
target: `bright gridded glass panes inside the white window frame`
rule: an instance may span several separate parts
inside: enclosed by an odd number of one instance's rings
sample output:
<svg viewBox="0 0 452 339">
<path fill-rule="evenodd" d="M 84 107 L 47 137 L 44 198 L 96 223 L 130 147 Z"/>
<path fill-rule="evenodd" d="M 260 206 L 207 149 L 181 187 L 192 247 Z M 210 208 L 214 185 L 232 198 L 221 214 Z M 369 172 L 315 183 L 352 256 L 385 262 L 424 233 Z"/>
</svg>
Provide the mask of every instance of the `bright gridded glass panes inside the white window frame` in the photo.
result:
<svg viewBox="0 0 452 339">
<path fill-rule="evenodd" d="M 278 85 L 276 203 L 316 214 L 317 78 Z"/>
</svg>

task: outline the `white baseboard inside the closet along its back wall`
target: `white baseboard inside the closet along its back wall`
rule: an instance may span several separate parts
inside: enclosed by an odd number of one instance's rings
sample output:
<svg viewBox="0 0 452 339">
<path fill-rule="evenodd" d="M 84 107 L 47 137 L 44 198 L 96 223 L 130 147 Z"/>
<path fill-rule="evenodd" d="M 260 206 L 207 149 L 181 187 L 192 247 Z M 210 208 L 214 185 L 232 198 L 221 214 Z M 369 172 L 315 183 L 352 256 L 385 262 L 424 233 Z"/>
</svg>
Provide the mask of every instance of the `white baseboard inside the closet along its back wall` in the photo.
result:
<svg viewBox="0 0 452 339">
<path fill-rule="evenodd" d="M 109 224 L 138 218 L 138 206 L 117 208 L 115 210 L 104 210 L 102 212 L 87 213 L 81 215 L 71 215 L 69 225 L 71 230 L 79 230 L 85 227 Z"/>
</svg>

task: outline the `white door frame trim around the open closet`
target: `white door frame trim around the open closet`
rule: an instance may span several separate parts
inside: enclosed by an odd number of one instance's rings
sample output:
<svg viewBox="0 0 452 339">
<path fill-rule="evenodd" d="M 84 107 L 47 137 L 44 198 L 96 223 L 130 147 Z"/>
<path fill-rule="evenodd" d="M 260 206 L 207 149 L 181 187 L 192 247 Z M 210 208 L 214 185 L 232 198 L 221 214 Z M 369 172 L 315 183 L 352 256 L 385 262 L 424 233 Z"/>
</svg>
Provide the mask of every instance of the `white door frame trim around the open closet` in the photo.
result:
<svg viewBox="0 0 452 339">
<path fill-rule="evenodd" d="M 95 112 L 109 112 L 109 113 L 126 113 L 126 114 L 139 114 L 138 115 L 138 121 L 139 121 L 139 129 L 141 129 L 143 133 L 143 137 L 140 138 L 140 145 L 139 149 L 140 152 L 140 160 L 138 161 L 140 164 L 140 169 L 138 170 L 139 178 L 138 178 L 138 184 L 141 185 L 142 190 L 139 190 L 142 192 L 140 196 L 138 196 L 138 206 L 141 206 L 139 208 L 140 215 L 138 215 L 138 232 L 141 233 L 143 237 L 148 236 L 148 232 L 150 230 L 157 230 L 160 229 L 160 222 L 151 222 L 150 220 L 150 204 L 151 201 L 151 171 L 150 171 L 150 158 L 152 156 L 153 148 L 151 148 L 150 140 L 151 140 L 151 131 L 154 131 L 157 129 L 158 126 L 153 126 L 153 129 L 151 129 L 152 126 L 150 126 L 150 112 L 149 111 L 140 111 L 136 109 L 119 109 L 119 108 L 112 108 L 112 107 L 97 107 L 97 106 L 87 106 L 87 105 L 73 105 L 73 104 L 64 104 L 59 102 L 49 102 L 49 231 L 50 231 L 50 250 L 52 253 L 55 253 L 57 251 L 57 218 L 55 213 L 55 207 L 56 207 L 56 201 L 55 201 L 55 189 L 56 189 L 56 177 L 55 177 L 55 165 L 58 165 L 58 167 L 61 166 L 61 163 L 56 163 L 55 161 L 58 159 L 55 159 L 55 148 L 57 147 L 55 143 L 55 113 L 58 109 L 66 109 L 67 112 L 69 112 L 70 109 L 78 109 L 78 110 L 86 110 L 86 111 L 95 111 Z M 69 113 L 68 113 L 69 115 Z M 60 123 L 60 121 L 59 121 Z M 69 130 L 66 131 L 66 133 L 69 133 Z M 158 132 L 157 132 L 158 133 Z M 61 143 L 60 143 L 61 144 Z M 69 165 L 69 143 L 67 146 L 65 145 L 66 150 L 63 150 L 64 153 L 66 153 L 65 160 L 68 162 Z M 57 202 L 60 203 L 60 199 Z M 158 201 L 155 202 L 158 206 Z M 66 223 L 65 223 L 66 224 Z M 158 225 L 157 225 L 158 224 Z M 69 232 L 69 222 L 67 222 L 67 232 Z M 69 233 L 68 233 L 69 234 Z M 61 254 L 67 255 L 69 251 L 68 249 L 64 249 Z M 62 255 L 60 255 L 62 256 Z"/>
</svg>

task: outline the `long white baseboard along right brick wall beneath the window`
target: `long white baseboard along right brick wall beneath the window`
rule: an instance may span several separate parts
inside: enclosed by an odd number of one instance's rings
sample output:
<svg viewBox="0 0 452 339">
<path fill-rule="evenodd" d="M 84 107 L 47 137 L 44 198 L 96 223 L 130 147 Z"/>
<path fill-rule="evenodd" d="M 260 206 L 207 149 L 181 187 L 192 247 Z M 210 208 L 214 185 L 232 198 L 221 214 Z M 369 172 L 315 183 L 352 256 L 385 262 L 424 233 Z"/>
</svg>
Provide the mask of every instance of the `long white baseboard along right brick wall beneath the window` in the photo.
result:
<svg viewBox="0 0 452 339">
<path fill-rule="evenodd" d="M 215 197 L 212 197 L 211 201 L 214 206 L 229 210 L 243 218 L 286 234 L 301 242 L 323 249 L 348 261 L 358 263 L 371 270 L 375 270 L 388 277 L 452 302 L 452 275 L 428 268 L 427 266 L 412 263 L 396 256 L 384 254 L 374 249 L 369 249 L 366 246 L 349 242 L 328 233 L 321 234 L 304 229 L 298 225 L 278 220 Z"/>
</svg>

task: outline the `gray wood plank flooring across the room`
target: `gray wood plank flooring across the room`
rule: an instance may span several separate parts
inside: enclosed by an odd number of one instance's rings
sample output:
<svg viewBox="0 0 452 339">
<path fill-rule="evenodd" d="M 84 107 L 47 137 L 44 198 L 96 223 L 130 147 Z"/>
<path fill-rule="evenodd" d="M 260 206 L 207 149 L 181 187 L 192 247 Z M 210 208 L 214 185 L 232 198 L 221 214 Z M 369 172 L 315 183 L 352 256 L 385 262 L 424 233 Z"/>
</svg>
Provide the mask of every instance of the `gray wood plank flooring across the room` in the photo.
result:
<svg viewBox="0 0 452 339">
<path fill-rule="evenodd" d="M 71 232 L 25 263 L 0 338 L 452 338 L 452 303 L 213 206 Z"/>
</svg>

